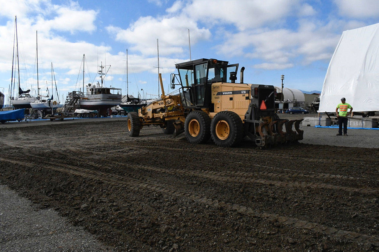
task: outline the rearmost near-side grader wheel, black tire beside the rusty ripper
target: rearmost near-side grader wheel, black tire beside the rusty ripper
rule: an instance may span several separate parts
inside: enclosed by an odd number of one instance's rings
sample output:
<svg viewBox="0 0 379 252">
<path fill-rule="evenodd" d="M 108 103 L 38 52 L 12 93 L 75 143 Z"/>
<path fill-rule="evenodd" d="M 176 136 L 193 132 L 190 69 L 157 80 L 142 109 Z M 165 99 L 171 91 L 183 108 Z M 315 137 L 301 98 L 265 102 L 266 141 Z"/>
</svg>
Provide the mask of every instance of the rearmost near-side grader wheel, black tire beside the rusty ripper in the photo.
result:
<svg viewBox="0 0 379 252">
<path fill-rule="evenodd" d="M 221 147 L 238 145 L 243 138 L 243 123 L 238 114 L 232 111 L 221 111 L 211 123 L 213 142 Z"/>
</svg>

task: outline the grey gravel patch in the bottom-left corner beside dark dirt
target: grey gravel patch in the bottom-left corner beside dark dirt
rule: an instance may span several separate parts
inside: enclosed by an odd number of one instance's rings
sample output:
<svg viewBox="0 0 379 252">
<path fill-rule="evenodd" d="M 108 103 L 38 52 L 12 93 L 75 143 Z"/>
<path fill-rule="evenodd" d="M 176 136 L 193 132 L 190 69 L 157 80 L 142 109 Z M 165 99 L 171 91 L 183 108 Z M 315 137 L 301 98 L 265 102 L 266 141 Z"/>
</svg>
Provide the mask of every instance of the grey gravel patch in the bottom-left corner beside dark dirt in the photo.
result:
<svg viewBox="0 0 379 252">
<path fill-rule="evenodd" d="M 0 185 L 2 251 L 111 251 L 81 226 L 73 226 L 53 209 L 33 203 Z"/>
</svg>

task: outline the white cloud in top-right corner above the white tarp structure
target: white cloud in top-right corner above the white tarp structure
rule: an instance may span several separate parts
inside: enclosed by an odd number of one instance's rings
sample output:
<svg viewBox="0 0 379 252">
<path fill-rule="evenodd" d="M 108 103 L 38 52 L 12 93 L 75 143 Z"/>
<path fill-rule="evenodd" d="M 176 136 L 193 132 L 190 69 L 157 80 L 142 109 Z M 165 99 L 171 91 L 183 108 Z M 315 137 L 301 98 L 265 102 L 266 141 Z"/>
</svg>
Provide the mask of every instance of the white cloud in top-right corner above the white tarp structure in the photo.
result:
<svg viewBox="0 0 379 252">
<path fill-rule="evenodd" d="M 377 0 L 334 0 L 341 15 L 354 18 L 379 17 Z"/>
</svg>

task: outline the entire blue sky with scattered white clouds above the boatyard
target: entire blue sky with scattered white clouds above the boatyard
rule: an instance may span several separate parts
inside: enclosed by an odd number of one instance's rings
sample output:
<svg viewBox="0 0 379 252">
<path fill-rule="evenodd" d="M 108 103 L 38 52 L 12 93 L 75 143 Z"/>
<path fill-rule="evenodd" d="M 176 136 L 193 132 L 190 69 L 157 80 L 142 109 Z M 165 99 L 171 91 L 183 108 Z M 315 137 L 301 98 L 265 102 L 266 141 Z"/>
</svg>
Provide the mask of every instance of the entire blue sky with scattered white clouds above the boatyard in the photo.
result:
<svg viewBox="0 0 379 252">
<path fill-rule="evenodd" d="M 321 91 L 343 31 L 379 20 L 377 0 L 0 0 L 0 91 L 8 96 L 17 16 L 20 87 L 60 99 L 100 81 L 142 97 L 165 92 L 175 63 L 212 58 L 245 67 L 244 82 Z M 36 39 L 38 31 L 38 40 Z M 189 31 L 189 32 L 188 32 Z M 189 34 L 189 36 L 188 36 Z M 189 41 L 191 47 L 189 47 Z M 189 49 L 190 48 L 190 49 Z M 128 50 L 128 64 L 127 64 Z M 191 52 L 191 54 L 190 54 Z M 127 85 L 128 66 L 128 85 Z M 17 66 L 14 66 L 17 73 Z M 17 76 L 17 75 L 16 75 Z M 237 74 L 239 81 L 239 74 Z M 14 81 L 14 80 L 13 80 Z M 16 87 L 18 77 L 16 77 Z M 55 91 L 54 91 L 55 92 Z M 6 103 L 6 102 L 5 102 Z"/>
</svg>

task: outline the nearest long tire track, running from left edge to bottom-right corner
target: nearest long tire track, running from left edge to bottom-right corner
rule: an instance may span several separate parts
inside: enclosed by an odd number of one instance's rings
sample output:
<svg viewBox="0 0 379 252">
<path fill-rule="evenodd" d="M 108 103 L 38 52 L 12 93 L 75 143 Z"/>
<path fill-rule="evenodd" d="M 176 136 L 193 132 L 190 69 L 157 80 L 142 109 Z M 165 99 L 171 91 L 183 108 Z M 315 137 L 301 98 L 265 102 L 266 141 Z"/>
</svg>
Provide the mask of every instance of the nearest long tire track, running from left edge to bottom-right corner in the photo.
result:
<svg viewBox="0 0 379 252">
<path fill-rule="evenodd" d="M 365 235 L 362 233 L 336 229 L 334 227 L 328 227 L 328 226 L 321 225 L 318 223 L 311 223 L 311 222 L 299 220 L 296 218 L 288 218 L 286 216 L 280 216 L 278 214 L 271 214 L 271 213 L 265 213 L 265 212 L 260 213 L 260 212 L 255 211 L 254 209 L 251 209 L 250 207 L 227 203 L 224 201 L 219 201 L 217 199 L 207 198 L 201 195 L 194 195 L 188 192 L 182 192 L 182 191 L 171 189 L 168 187 L 163 187 L 157 184 L 141 181 L 139 179 L 128 178 L 126 176 L 114 175 L 111 173 L 76 167 L 75 165 L 56 164 L 55 162 L 43 161 L 42 164 L 46 164 L 47 165 L 46 166 L 46 165 L 33 164 L 30 162 L 18 161 L 18 160 L 13 160 L 13 159 L 6 159 L 6 158 L 0 158 L 0 160 L 4 162 L 9 162 L 11 164 L 24 165 L 26 167 L 38 167 L 41 169 L 51 169 L 58 172 L 81 176 L 84 178 L 99 180 L 99 181 L 102 181 L 114 186 L 126 186 L 133 190 L 144 189 L 144 190 L 148 190 L 152 192 L 160 192 L 160 193 L 171 195 L 171 196 L 186 197 L 202 204 L 207 204 L 207 205 L 217 207 L 217 208 L 222 207 L 224 209 L 236 211 L 238 213 L 241 213 L 247 216 L 259 217 L 259 218 L 268 219 L 272 221 L 278 221 L 279 223 L 290 225 L 296 229 L 307 229 L 313 232 L 322 233 L 324 235 L 331 235 L 336 238 L 344 238 L 344 239 L 352 240 L 359 243 L 368 242 L 374 246 L 379 246 L 379 237 L 376 237 L 376 236 L 370 236 L 370 235 Z"/>
</svg>

